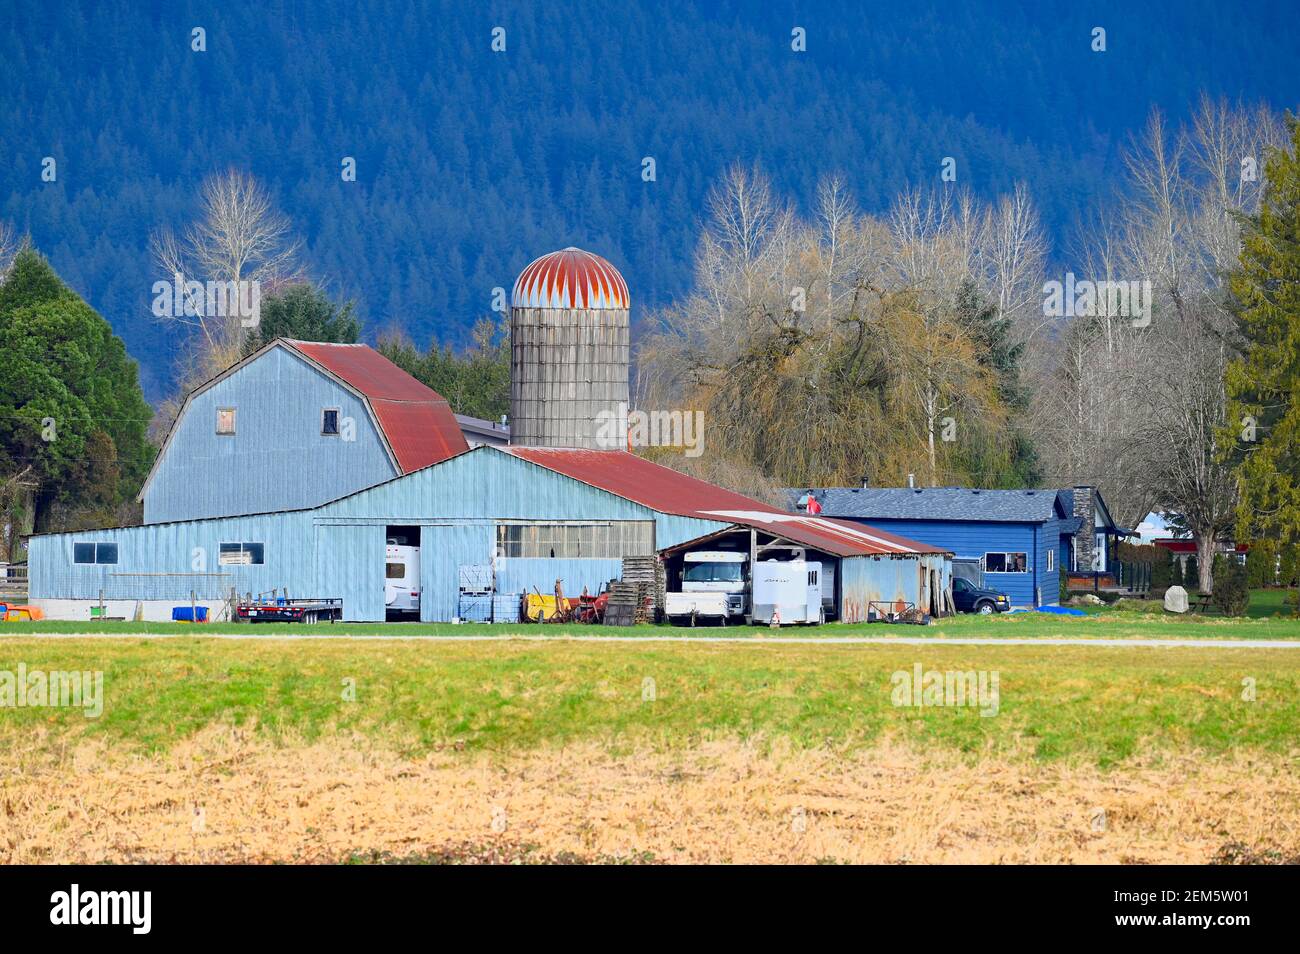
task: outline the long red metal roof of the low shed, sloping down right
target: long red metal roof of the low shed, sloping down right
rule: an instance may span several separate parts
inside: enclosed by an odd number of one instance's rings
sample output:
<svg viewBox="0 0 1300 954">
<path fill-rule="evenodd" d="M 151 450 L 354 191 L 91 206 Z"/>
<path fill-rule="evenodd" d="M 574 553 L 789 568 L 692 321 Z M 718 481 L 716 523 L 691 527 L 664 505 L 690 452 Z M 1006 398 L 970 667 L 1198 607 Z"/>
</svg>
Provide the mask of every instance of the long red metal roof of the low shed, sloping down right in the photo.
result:
<svg viewBox="0 0 1300 954">
<path fill-rule="evenodd" d="M 627 451 L 510 447 L 516 458 L 633 500 L 660 513 L 742 524 L 837 556 L 942 554 L 942 547 L 852 520 L 786 513 Z"/>
</svg>

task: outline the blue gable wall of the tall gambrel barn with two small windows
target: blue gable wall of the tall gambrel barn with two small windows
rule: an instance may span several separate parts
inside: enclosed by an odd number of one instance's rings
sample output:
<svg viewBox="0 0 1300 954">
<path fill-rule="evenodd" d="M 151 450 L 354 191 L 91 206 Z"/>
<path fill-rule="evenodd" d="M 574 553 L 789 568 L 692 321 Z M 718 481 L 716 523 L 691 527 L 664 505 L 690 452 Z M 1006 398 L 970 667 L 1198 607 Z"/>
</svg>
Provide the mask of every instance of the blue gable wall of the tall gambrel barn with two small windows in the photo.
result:
<svg viewBox="0 0 1300 954">
<path fill-rule="evenodd" d="M 233 437 L 216 433 L 221 407 L 237 408 Z M 354 441 L 320 433 L 324 408 L 351 419 Z M 146 490 L 144 520 L 315 507 L 394 473 L 365 404 L 277 347 L 194 398 Z"/>
</svg>

